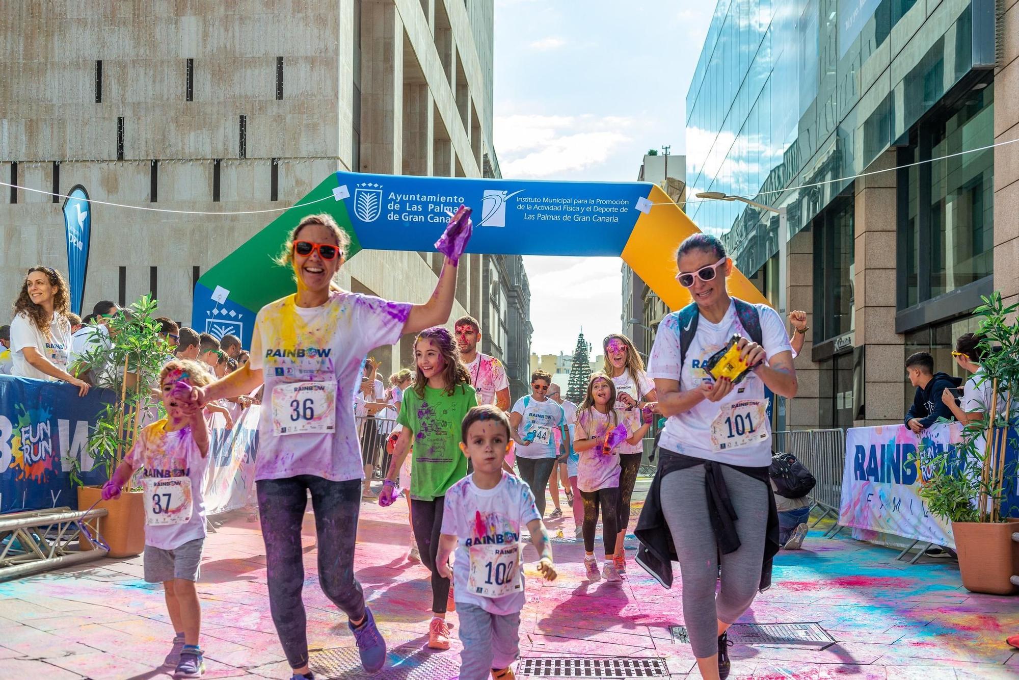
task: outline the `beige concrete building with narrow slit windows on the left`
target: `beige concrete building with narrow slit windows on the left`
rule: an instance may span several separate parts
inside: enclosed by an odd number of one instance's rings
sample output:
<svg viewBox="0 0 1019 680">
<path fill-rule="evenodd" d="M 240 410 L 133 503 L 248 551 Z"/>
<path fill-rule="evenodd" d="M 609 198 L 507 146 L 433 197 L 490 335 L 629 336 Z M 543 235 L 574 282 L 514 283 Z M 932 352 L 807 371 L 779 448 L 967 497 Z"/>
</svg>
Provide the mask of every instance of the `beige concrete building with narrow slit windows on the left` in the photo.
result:
<svg viewBox="0 0 1019 680">
<path fill-rule="evenodd" d="M 28 190 L 94 201 L 85 311 L 151 292 L 186 322 L 198 276 L 330 172 L 499 176 L 486 0 L 17 4 L 0 22 L 0 178 L 26 189 L 0 201 L 5 304 L 26 267 L 66 273 L 63 199 Z M 278 212 L 163 212 L 258 210 Z M 363 251 L 338 282 L 424 301 L 440 265 Z M 493 311 L 484 268 L 462 261 L 453 314 L 521 328 L 526 296 Z M 413 365 L 409 338 L 381 358 Z"/>
</svg>

